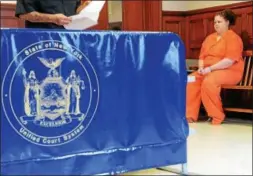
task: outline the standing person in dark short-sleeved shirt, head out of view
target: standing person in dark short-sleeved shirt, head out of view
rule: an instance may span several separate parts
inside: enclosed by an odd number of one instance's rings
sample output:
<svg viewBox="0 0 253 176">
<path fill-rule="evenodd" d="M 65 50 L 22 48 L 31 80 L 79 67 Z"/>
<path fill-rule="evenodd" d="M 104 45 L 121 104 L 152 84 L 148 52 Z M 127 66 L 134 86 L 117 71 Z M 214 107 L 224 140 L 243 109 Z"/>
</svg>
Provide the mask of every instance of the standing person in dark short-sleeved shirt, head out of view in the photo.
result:
<svg viewBox="0 0 253 176">
<path fill-rule="evenodd" d="M 71 22 L 90 0 L 17 0 L 15 16 L 25 20 L 26 28 L 61 29 Z"/>
</svg>

